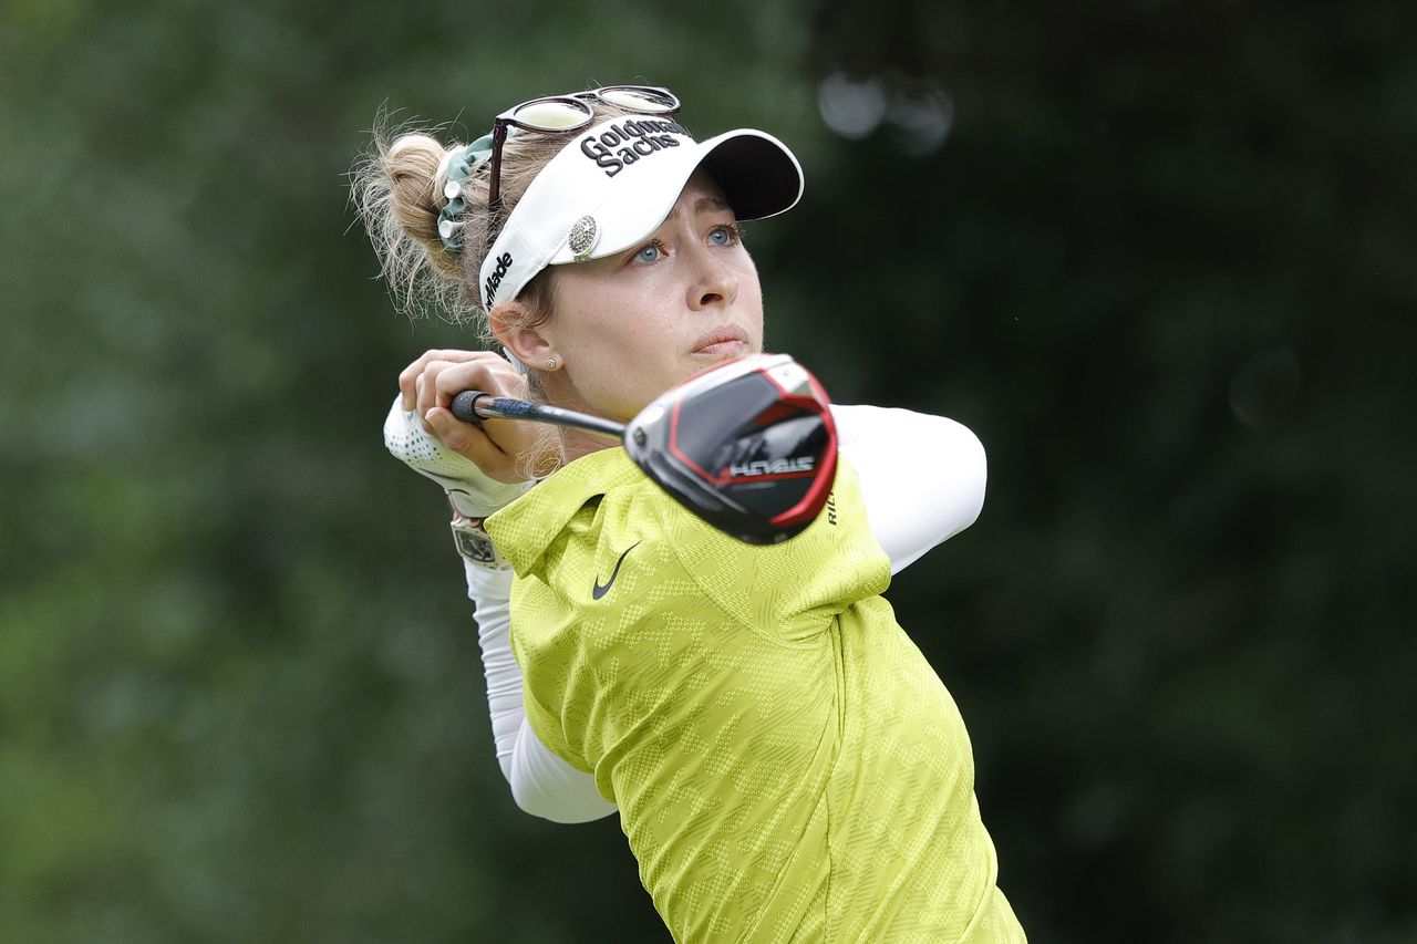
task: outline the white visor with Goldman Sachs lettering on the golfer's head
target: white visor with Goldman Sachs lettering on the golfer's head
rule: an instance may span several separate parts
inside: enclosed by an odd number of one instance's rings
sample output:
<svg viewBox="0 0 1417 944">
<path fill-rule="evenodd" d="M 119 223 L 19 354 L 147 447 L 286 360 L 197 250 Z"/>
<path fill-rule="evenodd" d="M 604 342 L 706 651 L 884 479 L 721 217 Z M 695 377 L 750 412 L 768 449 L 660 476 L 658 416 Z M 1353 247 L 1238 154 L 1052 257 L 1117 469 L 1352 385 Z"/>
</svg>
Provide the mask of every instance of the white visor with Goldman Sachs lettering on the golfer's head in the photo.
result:
<svg viewBox="0 0 1417 944">
<path fill-rule="evenodd" d="M 789 210 L 802 167 L 772 135 L 726 132 L 699 143 L 672 116 L 614 118 L 581 132 L 541 169 L 482 264 L 482 305 L 516 298 L 548 265 L 623 252 L 649 237 L 703 166 L 738 220 Z"/>
</svg>

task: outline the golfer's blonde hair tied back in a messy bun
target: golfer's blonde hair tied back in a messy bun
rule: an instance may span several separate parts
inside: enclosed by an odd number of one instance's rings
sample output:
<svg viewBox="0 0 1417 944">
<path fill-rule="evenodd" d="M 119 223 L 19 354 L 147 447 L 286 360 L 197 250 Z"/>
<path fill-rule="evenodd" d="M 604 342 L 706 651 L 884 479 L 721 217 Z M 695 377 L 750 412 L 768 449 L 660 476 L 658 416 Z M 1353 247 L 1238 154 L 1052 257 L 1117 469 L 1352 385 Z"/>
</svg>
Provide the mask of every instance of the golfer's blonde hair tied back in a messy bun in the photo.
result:
<svg viewBox="0 0 1417 944">
<path fill-rule="evenodd" d="M 612 105 L 595 103 L 595 122 L 629 115 Z M 487 213 L 490 163 L 462 183 L 466 204 L 461 234 L 462 249 L 449 249 L 438 235 L 438 214 L 448 204 L 444 196 L 446 157 L 463 147 L 444 143 L 439 129 L 391 129 L 380 113 L 373 146 L 351 172 L 353 198 L 374 251 L 380 275 L 388 283 L 398 310 L 411 318 L 438 315 L 459 325 L 475 325 L 485 343 L 492 329 L 478 289 L 482 262 L 512 210 L 526 194 L 541 169 L 571 139 L 564 133 L 514 132 L 502 147 L 502 210 Z M 531 279 L 517 299 L 529 318 L 510 327 L 533 327 L 551 316 L 554 308 L 553 269 Z"/>
</svg>

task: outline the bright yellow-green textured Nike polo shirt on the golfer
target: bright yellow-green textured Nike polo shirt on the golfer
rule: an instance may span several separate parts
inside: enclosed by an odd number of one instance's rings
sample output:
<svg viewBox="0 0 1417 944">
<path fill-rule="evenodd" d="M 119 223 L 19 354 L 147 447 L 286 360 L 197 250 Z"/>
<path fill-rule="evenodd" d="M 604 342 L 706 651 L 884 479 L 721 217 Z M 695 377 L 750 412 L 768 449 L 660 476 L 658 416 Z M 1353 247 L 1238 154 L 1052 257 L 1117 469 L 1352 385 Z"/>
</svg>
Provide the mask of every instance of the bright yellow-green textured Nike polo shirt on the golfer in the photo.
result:
<svg viewBox="0 0 1417 944">
<path fill-rule="evenodd" d="M 618 448 L 487 532 L 517 574 L 527 719 L 618 804 L 676 940 L 1024 940 L 849 463 L 775 547 L 703 523 Z"/>
</svg>

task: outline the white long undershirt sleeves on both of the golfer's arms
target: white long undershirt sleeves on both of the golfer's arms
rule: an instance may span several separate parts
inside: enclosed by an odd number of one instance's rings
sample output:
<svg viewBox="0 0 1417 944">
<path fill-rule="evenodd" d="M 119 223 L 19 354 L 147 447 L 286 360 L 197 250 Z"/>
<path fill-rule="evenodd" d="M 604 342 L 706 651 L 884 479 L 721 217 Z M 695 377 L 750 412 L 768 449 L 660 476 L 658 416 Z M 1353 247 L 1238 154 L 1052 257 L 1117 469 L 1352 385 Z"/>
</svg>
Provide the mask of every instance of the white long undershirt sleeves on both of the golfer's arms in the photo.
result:
<svg viewBox="0 0 1417 944">
<path fill-rule="evenodd" d="M 397 407 L 395 407 L 397 408 Z M 983 506 L 983 446 L 944 417 L 881 407 L 832 407 L 842 454 L 860 481 L 871 533 L 891 574 L 969 527 Z M 512 655 L 512 573 L 465 561 L 478 621 L 497 763 L 523 811 L 588 822 L 616 811 L 591 774 L 553 754 L 526 719 L 521 669 Z"/>
</svg>

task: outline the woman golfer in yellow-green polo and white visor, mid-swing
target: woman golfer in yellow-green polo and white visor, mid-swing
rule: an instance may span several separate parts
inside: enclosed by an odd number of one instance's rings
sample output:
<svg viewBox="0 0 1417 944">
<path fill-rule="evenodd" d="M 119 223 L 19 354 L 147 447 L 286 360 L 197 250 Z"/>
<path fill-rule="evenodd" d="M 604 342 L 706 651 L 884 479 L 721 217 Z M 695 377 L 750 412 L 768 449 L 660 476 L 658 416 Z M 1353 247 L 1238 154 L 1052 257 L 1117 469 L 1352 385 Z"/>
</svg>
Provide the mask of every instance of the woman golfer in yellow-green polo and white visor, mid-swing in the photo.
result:
<svg viewBox="0 0 1417 944">
<path fill-rule="evenodd" d="M 1022 941 L 959 712 L 880 595 L 978 516 L 968 429 L 833 407 L 826 512 L 757 547 L 611 439 L 449 411 L 476 388 L 626 421 L 762 349 L 738 221 L 792 207 L 801 169 L 762 132 L 696 142 L 677 112 L 643 86 L 534 99 L 360 172 L 404 300 L 485 313 L 506 353 L 428 352 L 385 424 L 453 505 L 497 760 L 527 812 L 618 812 L 679 941 Z"/>
</svg>

